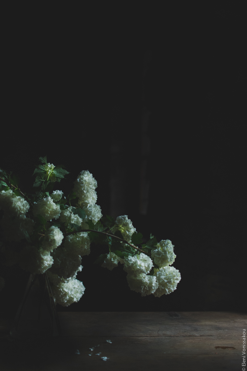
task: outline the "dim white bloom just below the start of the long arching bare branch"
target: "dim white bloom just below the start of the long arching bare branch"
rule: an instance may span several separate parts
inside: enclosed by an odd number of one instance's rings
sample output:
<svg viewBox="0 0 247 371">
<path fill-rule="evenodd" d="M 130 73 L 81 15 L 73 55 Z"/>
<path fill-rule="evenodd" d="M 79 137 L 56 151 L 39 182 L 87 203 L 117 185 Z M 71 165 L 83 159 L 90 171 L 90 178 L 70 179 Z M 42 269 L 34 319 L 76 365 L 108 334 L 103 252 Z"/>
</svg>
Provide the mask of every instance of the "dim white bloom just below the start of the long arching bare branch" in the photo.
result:
<svg viewBox="0 0 247 371">
<path fill-rule="evenodd" d="M 87 232 L 69 234 L 64 241 L 64 248 L 68 252 L 83 256 L 90 254 L 90 239 Z"/>
</svg>

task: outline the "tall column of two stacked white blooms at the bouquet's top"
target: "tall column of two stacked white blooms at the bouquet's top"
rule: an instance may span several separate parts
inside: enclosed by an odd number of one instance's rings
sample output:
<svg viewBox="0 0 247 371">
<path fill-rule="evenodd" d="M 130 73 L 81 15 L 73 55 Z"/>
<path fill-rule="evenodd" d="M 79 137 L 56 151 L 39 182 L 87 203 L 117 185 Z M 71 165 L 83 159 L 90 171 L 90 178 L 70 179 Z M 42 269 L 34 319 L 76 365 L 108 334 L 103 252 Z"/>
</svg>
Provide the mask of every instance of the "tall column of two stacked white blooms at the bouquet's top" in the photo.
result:
<svg viewBox="0 0 247 371">
<path fill-rule="evenodd" d="M 86 212 L 86 217 L 83 220 L 84 223 L 87 220 L 92 220 L 96 224 L 103 216 L 100 206 L 96 205 L 97 193 L 95 188 L 97 188 L 97 181 L 88 170 L 81 171 L 77 180 L 74 181 L 73 191 L 79 197 L 79 205 Z"/>
</svg>

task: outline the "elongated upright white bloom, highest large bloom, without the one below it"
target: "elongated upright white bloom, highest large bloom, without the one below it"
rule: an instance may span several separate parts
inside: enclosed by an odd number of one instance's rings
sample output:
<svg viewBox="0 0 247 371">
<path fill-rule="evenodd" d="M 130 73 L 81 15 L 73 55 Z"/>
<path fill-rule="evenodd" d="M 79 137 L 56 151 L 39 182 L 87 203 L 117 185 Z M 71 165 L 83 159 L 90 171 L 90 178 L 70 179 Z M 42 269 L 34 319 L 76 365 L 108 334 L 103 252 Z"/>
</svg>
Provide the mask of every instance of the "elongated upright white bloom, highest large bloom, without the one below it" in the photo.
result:
<svg viewBox="0 0 247 371">
<path fill-rule="evenodd" d="M 88 205 L 94 205 L 97 201 L 97 181 L 93 178 L 93 175 L 88 170 L 83 170 L 78 175 L 76 181 L 74 181 L 73 191 L 76 196 L 79 197 L 79 204 L 81 207 Z"/>
</svg>

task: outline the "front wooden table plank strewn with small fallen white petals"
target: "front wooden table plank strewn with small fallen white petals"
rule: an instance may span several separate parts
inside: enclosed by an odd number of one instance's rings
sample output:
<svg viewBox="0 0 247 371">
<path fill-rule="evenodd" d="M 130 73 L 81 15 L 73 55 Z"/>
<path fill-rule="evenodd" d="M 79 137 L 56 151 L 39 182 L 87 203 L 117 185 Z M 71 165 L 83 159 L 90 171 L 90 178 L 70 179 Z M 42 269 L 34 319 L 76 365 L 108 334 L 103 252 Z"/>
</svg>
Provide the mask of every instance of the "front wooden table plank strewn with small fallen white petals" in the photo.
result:
<svg viewBox="0 0 247 371">
<path fill-rule="evenodd" d="M 2 347 L 2 371 L 96 370 L 237 370 L 241 339 L 235 336 L 164 337 L 61 337 L 46 344 L 10 342 Z M 90 351 L 91 347 L 96 347 Z M 227 349 L 215 347 L 231 347 Z M 233 349 L 235 348 L 235 349 Z M 77 349 L 80 354 L 76 354 Z M 232 349 L 232 350 L 230 350 Z M 100 355 L 96 353 L 101 352 Z M 92 354 L 89 356 L 89 354 Z M 107 357 L 106 362 L 101 357 Z M 21 366 L 22 365 L 22 366 Z M 26 367 L 26 368 L 21 368 Z"/>
</svg>

